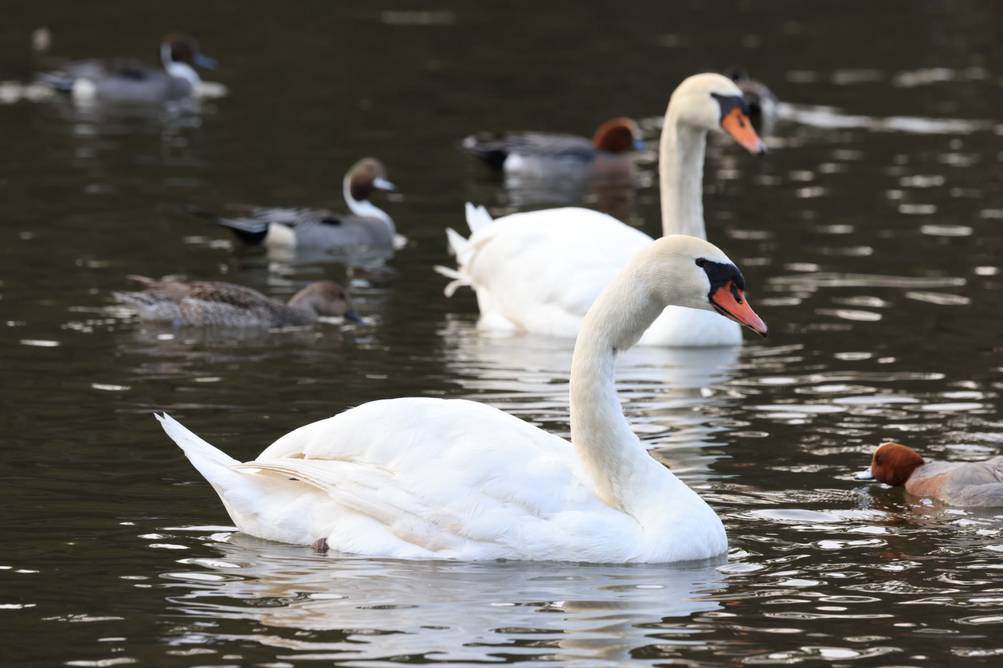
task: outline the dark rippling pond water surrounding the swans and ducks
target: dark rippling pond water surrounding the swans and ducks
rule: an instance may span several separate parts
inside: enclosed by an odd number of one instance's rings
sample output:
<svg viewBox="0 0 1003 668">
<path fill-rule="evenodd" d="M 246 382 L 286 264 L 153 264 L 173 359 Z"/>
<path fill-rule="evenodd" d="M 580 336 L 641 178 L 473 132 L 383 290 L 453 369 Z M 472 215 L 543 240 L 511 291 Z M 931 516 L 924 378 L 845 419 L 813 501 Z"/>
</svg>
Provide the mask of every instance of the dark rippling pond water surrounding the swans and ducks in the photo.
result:
<svg viewBox="0 0 1003 668">
<path fill-rule="evenodd" d="M 5 6 L 0 79 L 30 71 L 38 25 L 56 54 L 150 59 L 181 27 L 230 94 L 179 113 L 0 105 L 3 663 L 998 665 L 1003 510 L 852 475 L 885 439 L 954 461 L 1003 451 L 1000 5 L 480 4 Z M 571 343 L 479 335 L 472 295 L 446 299 L 431 271 L 465 200 L 534 201 L 456 143 L 657 118 L 684 76 L 732 62 L 790 103 L 769 155 L 715 141 L 706 169 L 710 238 L 773 335 L 633 351 L 619 372 L 653 456 L 723 518 L 725 564 L 339 559 L 233 533 L 154 410 L 245 460 L 398 396 L 567 435 Z M 409 239 L 383 265 L 247 252 L 183 210 L 340 207 L 369 154 Z M 655 160 L 616 202 L 652 233 Z M 331 277 L 375 324 L 157 329 L 112 303 L 128 273 L 283 297 Z"/>
</svg>

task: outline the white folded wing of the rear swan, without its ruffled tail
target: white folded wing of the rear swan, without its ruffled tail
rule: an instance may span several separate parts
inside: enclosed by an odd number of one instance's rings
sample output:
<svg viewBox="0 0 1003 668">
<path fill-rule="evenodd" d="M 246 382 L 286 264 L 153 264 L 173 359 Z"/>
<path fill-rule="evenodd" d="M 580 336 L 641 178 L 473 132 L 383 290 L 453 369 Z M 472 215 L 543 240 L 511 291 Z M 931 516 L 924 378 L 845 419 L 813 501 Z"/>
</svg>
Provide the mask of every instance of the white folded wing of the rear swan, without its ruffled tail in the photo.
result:
<svg viewBox="0 0 1003 668">
<path fill-rule="evenodd" d="M 481 324 L 575 337 L 592 302 L 652 239 L 586 208 L 515 213 L 478 226 L 457 253 Z"/>
</svg>

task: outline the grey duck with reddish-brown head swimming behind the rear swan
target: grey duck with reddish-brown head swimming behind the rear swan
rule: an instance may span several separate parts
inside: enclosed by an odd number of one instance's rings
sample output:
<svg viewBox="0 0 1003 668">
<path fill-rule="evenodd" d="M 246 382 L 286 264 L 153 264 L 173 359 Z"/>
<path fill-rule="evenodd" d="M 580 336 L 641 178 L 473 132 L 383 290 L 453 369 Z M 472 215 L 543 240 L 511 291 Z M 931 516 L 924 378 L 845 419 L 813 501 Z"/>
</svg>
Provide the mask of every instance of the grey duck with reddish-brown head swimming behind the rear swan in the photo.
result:
<svg viewBox="0 0 1003 668">
<path fill-rule="evenodd" d="M 548 172 L 588 167 L 600 172 L 629 172 L 630 152 L 643 149 L 640 131 L 630 118 L 613 118 L 592 139 L 549 132 L 482 131 L 463 139 L 463 150 L 508 173 L 546 176 Z"/>
</svg>

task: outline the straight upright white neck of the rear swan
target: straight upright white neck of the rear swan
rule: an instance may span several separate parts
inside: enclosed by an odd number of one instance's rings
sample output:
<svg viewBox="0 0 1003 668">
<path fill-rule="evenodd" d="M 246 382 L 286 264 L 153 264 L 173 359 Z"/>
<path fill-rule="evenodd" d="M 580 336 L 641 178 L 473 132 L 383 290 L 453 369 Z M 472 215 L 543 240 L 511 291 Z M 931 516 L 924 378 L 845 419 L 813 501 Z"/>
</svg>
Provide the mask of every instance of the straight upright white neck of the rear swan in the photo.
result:
<svg viewBox="0 0 1003 668">
<path fill-rule="evenodd" d="M 703 225 L 703 156 L 707 131 L 680 123 L 670 103 L 662 125 L 658 172 L 662 234 L 707 238 Z"/>
</svg>

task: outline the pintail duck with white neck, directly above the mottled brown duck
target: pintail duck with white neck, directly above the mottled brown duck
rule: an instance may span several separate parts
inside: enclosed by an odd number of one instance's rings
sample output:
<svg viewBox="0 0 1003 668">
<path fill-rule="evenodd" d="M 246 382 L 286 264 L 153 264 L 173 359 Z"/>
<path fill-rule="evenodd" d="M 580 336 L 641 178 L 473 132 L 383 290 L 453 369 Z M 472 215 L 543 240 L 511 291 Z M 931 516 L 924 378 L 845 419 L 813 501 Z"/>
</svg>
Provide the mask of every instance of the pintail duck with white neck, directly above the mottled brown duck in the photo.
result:
<svg viewBox="0 0 1003 668">
<path fill-rule="evenodd" d="M 345 202 L 349 214 L 326 208 L 273 207 L 231 204 L 227 217 L 192 209 L 196 215 L 208 218 L 233 230 L 249 245 L 270 246 L 390 247 L 396 236 L 393 220 L 369 201 L 373 190 L 393 190 L 386 178 L 386 167 L 373 157 L 359 160 L 345 174 Z"/>
</svg>

